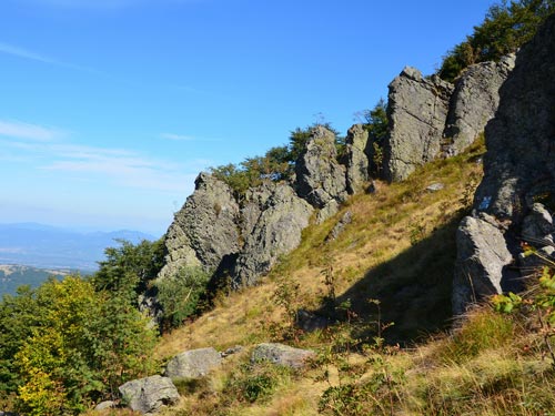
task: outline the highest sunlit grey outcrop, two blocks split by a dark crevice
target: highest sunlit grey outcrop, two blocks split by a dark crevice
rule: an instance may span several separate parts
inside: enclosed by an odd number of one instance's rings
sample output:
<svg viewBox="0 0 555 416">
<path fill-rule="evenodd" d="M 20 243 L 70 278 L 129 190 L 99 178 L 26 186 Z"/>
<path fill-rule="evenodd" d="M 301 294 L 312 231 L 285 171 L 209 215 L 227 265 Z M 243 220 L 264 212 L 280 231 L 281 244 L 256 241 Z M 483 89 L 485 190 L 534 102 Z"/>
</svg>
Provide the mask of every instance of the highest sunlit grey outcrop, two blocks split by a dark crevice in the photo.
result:
<svg viewBox="0 0 555 416">
<path fill-rule="evenodd" d="M 514 61 L 508 55 L 497 63 L 471 65 L 454 84 L 405 68 L 390 84 L 385 179 L 402 181 L 417 166 L 456 155 L 472 144 L 494 116 L 498 90 Z"/>
</svg>

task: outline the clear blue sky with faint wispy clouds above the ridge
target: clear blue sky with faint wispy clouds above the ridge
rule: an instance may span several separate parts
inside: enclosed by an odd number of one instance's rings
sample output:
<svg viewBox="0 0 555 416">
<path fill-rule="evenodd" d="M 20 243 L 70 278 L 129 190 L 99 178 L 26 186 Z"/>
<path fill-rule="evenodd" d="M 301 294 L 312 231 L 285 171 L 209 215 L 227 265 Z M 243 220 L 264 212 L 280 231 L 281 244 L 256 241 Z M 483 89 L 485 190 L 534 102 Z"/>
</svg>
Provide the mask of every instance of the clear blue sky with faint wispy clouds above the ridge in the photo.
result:
<svg viewBox="0 0 555 416">
<path fill-rule="evenodd" d="M 2 0 L 0 223 L 161 235 L 201 170 L 344 133 L 490 4 Z"/>
</svg>

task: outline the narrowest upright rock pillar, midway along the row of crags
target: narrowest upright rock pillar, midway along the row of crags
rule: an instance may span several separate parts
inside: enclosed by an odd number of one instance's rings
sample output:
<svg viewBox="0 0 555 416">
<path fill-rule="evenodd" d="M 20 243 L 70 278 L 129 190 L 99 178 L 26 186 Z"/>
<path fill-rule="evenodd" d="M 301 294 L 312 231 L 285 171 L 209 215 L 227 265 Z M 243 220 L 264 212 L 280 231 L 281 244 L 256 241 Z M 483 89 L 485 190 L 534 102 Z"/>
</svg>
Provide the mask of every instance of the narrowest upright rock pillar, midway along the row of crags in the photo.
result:
<svg viewBox="0 0 555 416">
<path fill-rule="evenodd" d="M 369 131 L 362 124 L 349 129 L 345 138 L 346 187 L 350 194 L 361 192 L 370 181 L 370 161 L 373 149 Z"/>
</svg>

